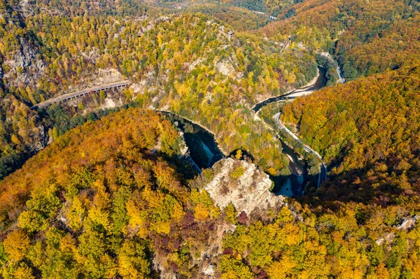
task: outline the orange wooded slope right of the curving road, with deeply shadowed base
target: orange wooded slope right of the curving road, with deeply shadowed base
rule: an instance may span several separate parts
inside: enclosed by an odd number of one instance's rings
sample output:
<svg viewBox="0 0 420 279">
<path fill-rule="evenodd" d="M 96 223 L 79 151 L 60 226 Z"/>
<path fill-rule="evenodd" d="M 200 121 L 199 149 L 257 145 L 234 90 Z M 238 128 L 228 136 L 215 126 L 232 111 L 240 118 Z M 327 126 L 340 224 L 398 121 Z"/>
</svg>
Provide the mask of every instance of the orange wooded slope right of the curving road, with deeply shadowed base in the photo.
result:
<svg viewBox="0 0 420 279">
<path fill-rule="evenodd" d="M 328 87 L 283 108 L 325 162 L 335 166 L 323 199 L 418 203 L 420 67 Z M 351 189 L 351 190 L 350 190 Z"/>
</svg>

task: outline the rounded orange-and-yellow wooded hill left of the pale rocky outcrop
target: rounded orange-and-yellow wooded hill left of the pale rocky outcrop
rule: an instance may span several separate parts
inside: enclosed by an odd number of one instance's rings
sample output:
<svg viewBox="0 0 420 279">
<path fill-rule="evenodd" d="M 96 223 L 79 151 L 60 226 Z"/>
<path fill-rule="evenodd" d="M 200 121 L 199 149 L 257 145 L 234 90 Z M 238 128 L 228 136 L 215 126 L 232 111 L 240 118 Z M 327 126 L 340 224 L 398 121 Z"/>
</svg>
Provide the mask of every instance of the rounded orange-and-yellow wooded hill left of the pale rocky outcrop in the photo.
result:
<svg viewBox="0 0 420 279">
<path fill-rule="evenodd" d="M 19 229 L 0 245 L 0 277 L 150 278 L 152 255 L 190 277 L 220 211 L 183 186 L 180 144 L 169 121 L 138 109 L 58 138 L 1 183 L 1 230 Z"/>
</svg>

